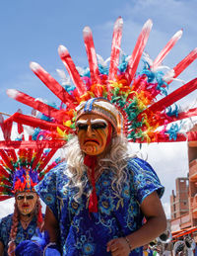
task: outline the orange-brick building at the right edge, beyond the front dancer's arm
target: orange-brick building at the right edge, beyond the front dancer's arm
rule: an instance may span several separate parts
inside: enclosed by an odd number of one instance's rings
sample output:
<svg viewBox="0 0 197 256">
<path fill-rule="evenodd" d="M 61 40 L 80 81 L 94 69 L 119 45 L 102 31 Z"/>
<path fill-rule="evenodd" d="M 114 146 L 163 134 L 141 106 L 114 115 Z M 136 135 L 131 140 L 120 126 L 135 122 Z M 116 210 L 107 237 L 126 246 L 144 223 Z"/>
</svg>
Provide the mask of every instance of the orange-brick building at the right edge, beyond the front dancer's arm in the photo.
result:
<svg viewBox="0 0 197 256">
<path fill-rule="evenodd" d="M 197 141 L 188 142 L 188 167 L 188 177 L 176 179 L 170 196 L 172 232 L 197 226 Z M 193 237 L 197 242 L 196 232 Z"/>
</svg>

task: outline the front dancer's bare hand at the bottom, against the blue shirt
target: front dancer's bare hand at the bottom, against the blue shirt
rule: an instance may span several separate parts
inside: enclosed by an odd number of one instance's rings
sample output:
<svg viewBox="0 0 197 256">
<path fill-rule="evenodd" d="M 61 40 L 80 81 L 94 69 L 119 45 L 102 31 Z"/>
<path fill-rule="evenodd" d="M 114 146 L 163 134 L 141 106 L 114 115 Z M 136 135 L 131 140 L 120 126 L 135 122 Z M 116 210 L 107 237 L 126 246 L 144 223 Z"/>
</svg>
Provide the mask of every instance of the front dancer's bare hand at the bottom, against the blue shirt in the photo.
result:
<svg viewBox="0 0 197 256">
<path fill-rule="evenodd" d="M 124 237 L 110 240 L 106 245 L 106 251 L 111 252 L 112 256 L 128 256 L 130 248 Z"/>
</svg>

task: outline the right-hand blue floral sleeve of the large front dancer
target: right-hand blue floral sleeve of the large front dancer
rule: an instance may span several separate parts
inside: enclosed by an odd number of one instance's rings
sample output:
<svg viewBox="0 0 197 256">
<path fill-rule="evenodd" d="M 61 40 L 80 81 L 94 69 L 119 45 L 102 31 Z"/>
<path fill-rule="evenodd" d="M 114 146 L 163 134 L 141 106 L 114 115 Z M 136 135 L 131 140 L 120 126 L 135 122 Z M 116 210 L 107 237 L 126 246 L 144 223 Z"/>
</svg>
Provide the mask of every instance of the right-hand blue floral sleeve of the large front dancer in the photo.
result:
<svg viewBox="0 0 197 256">
<path fill-rule="evenodd" d="M 140 158 L 133 158 L 129 161 L 129 167 L 133 174 L 133 187 L 136 191 L 136 198 L 141 205 L 144 199 L 157 191 L 160 198 L 164 195 L 164 186 L 152 166 Z"/>
</svg>

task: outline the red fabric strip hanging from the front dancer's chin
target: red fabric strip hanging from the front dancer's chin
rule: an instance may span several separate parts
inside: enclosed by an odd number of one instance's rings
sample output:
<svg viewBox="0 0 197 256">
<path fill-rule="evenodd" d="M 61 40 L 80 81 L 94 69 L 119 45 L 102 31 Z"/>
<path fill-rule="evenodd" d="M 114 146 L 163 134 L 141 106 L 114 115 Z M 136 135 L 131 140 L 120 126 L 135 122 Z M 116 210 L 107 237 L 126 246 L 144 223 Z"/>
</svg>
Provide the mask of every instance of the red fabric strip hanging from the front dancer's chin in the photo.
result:
<svg viewBox="0 0 197 256">
<path fill-rule="evenodd" d="M 92 170 L 91 182 L 93 186 L 93 191 L 91 193 L 90 201 L 89 201 L 89 213 L 98 213 L 98 197 L 96 193 L 96 180 L 95 180 L 95 167 L 97 164 L 97 156 L 86 155 L 84 157 L 84 164 Z"/>
</svg>

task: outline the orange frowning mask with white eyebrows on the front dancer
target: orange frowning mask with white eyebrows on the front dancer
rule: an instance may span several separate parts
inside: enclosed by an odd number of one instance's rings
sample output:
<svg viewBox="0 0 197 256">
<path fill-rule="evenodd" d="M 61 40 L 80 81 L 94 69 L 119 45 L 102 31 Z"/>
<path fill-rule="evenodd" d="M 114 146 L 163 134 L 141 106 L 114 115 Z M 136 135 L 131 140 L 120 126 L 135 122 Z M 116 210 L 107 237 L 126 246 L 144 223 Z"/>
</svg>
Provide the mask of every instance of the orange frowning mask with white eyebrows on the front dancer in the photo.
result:
<svg viewBox="0 0 197 256">
<path fill-rule="evenodd" d="M 85 114 L 76 123 L 80 147 L 88 155 L 100 155 L 108 143 L 111 125 L 96 114 Z"/>
</svg>

